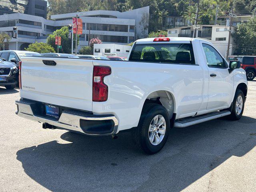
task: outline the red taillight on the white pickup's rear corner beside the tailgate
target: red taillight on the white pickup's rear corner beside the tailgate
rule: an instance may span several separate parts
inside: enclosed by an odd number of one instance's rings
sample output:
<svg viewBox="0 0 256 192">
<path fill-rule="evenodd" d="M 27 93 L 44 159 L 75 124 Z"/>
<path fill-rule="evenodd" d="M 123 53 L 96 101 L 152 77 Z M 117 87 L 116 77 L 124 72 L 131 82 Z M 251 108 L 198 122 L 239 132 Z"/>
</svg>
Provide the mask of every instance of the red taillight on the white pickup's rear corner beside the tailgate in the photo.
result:
<svg viewBox="0 0 256 192">
<path fill-rule="evenodd" d="M 104 77 L 110 74 L 110 67 L 94 66 L 92 79 L 92 101 L 102 102 L 108 99 L 108 86 L 104 84 Z"/>
</svg>

